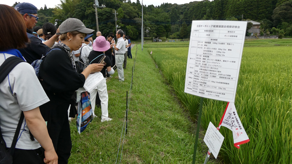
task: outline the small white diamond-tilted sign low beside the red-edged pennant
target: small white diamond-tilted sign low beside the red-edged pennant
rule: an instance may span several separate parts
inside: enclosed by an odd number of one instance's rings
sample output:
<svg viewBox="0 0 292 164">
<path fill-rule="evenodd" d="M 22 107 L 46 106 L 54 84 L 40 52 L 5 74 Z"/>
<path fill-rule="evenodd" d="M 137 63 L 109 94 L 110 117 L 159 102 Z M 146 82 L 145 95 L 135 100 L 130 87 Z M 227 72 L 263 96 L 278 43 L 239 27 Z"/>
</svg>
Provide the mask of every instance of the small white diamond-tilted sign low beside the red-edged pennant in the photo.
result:
<svg viewBox="0 0 292 164">
<path fill-rule="evenodd" d="M 211 150 L 216 159 L 222 146 L 223 140 L 223 135 L 217 130 L 212 122 L 210 122 L 204 137 L 204 142 Z"/>
</svg>

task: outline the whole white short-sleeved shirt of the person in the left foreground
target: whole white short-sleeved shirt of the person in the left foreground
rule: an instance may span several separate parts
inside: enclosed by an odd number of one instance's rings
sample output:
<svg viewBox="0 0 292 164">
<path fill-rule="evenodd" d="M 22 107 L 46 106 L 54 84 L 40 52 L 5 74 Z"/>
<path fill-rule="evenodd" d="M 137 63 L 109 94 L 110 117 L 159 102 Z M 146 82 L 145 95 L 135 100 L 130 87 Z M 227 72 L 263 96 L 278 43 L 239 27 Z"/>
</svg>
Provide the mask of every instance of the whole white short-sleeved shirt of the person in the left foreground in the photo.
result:
<svg viewBox="0 0 292 164">
<path fill-rule="evenodd" d="M 0 53 L 0 65 L 5 58 L 11 56 L 13 55 Z M 23 62 L 12 69 L 0 83 L 0 123 L 7 148 L 11 147 L 21 111 L 33 110 L 49 100 L 32 66 Z M 23 120 L 19 135 L 16 148 L 30 150 L 40 147 L 37 140 L 31 141 L 25 120 Z"/>
</svg>

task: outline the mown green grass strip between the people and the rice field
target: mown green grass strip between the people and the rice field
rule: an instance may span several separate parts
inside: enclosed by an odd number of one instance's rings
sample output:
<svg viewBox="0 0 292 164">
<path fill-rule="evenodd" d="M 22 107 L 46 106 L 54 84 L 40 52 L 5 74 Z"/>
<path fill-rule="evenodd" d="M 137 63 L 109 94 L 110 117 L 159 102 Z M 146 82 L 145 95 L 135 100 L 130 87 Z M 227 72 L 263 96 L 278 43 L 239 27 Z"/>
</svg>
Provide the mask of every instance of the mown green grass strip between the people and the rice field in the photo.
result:
<svg viewBox="0 0 292 164">
<path fill-rule="evenodd" d="M 146 50 L 142 52 L 140 45 L 138 49 L 128 111 L 128 134 L 125 136 L 121 163 L 190 164 L 194 150 L 194 124 L 187 119 L 189 115 L 175 100 L 149 53 Z M 132 49 L 133 57 L 135 51 L 136 46 Z M 117 72 L 107 80 L 112 121 L 101 123 L 100 117 L 94 118 L 87 129 L 78 134 L 73 119 L 70 164 L 115 164 L 133 60 L 128 59 L 127 69 L 124 70 L 125 82 L 118 81 Z M 100 108 L 95 109 L 95 114 L 101 115 Z M 197 164 L 203 163 L 207 151 L 201 142 Z M 120 154 L 118 163 L 119 160 Z"/>
</svg>

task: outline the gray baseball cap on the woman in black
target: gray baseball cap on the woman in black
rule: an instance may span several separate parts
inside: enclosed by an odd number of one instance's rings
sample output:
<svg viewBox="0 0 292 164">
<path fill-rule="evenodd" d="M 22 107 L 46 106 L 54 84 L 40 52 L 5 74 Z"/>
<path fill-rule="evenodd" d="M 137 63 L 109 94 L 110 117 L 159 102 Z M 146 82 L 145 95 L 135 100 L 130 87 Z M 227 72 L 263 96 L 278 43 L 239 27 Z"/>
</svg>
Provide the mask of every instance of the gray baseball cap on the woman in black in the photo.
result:
<svg viewBox="0 0 292 164">
<path fill-rule="evenodd" d="M 86 28 L 85 25 L 82 23 L 82 21 L 76 18 L 66 19 L 60 25 L 59 30 L 60 30 L 60 33 L 57 33 L 57 34 L 69 33 L 73 31 L 86 33 L 86 34 L 91 34 L 94 32 L 94 30 Z"/>
</svg>

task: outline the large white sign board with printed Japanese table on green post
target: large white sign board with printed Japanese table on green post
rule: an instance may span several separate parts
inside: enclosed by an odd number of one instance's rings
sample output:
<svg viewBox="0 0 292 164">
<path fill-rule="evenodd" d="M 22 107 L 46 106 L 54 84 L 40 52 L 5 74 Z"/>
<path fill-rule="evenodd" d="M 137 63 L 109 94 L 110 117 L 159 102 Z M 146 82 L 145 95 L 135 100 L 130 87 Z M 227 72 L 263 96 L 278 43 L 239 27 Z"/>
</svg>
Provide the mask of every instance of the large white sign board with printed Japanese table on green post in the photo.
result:
<svg viewBox="0 0 292 164">
<path fill-rule="evenodd" d="M 246 21 L 193 20 L 184 92 L 234 102 Z"/>
</svg>

